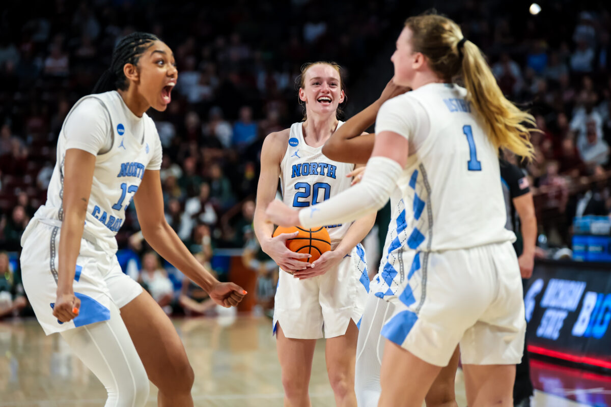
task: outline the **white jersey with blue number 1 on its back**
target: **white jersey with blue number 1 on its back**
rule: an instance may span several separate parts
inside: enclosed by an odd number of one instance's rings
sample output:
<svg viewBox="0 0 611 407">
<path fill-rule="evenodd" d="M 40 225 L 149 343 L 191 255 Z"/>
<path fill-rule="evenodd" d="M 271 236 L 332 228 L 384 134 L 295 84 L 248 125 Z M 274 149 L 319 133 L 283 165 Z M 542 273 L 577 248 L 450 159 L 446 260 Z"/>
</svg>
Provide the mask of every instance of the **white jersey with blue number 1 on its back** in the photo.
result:
<svg viewBox="0 0 611 407">
<path fill-rule="evenodd" d="M 428 84 L 381 108 L 406 115 L 413 133 L 408 135 L 406 167 L 390 196 L 392 215 L 378 297 L 394 294 L 405 278 L 426 267 L 427 256 L 414 251 L 426 254 L 515 240 L 505 229 L 497 151 L 466 95 L 458 85 Z M 406 113 L 414 111 L 418 113 L 413 117 Z M 376 123 L 376 133 L 393 126 Z"/>
</svg>

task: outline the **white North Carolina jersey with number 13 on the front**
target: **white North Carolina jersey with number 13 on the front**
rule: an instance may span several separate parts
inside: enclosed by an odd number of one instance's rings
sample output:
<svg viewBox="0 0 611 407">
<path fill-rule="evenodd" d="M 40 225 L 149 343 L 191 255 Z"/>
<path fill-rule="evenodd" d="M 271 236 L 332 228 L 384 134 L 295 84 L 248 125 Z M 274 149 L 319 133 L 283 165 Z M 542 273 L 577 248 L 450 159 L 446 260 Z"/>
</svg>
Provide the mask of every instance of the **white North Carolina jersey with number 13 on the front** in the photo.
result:
<svg viewBox="0 0 611 407">
<path fill-rule="evenodd" d="M 71 114 L 76 106 L 87 98 L 97 98 L 101 102 L 100 109 L 106 109 L 111 121 L 109 128 L 112 131 L 112 147 L 108 152 L 98 154 L 95 159 L 83 237 L 115 251 L 117 242 L 114 236 L 125 219 L 125 209 L 136 193 L 145 169 L 155 158 L 155 154 L 161 153 L 161 142 L 153 120 L 146 113 L 142 118 L 137 118 L 118 92 L 85 96 L 68 112 L 57 140 L 57 162 L 49 183 L 47 200 L 34 218 L 56 225 L 63 220 L 62 196 L 67 142 L 65 123 L 68 119 L 78 119 L 71 117 Z"/>
</svg>

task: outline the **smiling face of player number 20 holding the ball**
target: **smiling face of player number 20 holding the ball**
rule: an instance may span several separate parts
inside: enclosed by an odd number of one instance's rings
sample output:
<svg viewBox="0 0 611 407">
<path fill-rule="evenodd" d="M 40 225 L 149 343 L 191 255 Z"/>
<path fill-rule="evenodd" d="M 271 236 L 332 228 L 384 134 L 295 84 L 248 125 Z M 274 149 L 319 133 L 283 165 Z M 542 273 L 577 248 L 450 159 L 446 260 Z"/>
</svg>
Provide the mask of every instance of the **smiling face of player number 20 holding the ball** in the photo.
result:
<svg viewBox="0 0 611 407">
<path fill-rule="evenodd" d="M 299 99 L 305 103 L 306 114 L 335 114 L 337 106 L 345 98 L 337 69 L 326 63 L 316 63 L 303 75 Z"/>
</svg>

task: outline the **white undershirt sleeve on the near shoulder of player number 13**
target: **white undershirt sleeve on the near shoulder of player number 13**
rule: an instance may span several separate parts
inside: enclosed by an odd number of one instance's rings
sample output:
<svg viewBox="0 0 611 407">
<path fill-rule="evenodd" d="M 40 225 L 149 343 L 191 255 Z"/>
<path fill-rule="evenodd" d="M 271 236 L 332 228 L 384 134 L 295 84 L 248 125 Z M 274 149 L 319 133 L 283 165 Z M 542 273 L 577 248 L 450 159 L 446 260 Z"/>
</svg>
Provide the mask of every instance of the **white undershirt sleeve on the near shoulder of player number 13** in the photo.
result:
<svg viewBox="0 0 611 407">
<path fill-rule="evenodd" d="M 103 104 L 87 98 L 70 113 L 64 124 L 66 149 L 78 148 L 97 156 L 112 146 L 110 118 Z"/>
</svg>

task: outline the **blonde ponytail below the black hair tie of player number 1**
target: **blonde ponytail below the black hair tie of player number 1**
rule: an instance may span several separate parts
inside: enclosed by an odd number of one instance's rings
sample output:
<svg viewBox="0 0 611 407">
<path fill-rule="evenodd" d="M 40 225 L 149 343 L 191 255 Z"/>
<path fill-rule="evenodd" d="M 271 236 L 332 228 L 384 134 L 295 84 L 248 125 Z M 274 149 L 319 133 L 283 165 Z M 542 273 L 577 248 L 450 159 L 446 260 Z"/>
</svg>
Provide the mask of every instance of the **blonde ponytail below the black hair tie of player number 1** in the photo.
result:
<svg viewBox="0 0 611 407">
<path fill-rule="evenodd" d="M 477 45 L 466 41 L 461 51 L 467 98 L 483 118 L 490 141 L 496 148 L 532 159 L 535 150 L 530 131 L 536 128 L 535 118 L 505 98 Z"/>
</svg>

